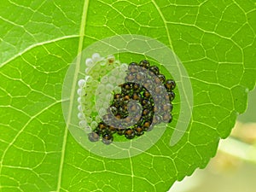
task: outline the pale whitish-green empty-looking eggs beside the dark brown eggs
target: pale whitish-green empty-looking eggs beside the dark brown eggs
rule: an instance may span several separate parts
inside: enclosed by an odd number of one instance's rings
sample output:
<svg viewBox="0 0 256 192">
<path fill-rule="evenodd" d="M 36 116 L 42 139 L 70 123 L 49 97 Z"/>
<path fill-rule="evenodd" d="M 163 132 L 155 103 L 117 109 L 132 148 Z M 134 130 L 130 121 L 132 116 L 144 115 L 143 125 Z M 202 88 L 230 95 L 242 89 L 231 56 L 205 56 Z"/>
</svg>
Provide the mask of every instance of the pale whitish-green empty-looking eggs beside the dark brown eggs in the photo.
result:
<svg viewBox="0 0 256 192">
<path fill-rule="evenodd" d="M 102 121 L 113 99 L 112 89 L 116 93 L 121 91 L 118 84 L 125 82 L 128 65 L 121 64 L 113 55 L 104 58 L 95 53 L 85 60 L 85 66 L 85 78 L 78 82 L 78 118 L 79 127 L 90 132 Z"/>
</svg>

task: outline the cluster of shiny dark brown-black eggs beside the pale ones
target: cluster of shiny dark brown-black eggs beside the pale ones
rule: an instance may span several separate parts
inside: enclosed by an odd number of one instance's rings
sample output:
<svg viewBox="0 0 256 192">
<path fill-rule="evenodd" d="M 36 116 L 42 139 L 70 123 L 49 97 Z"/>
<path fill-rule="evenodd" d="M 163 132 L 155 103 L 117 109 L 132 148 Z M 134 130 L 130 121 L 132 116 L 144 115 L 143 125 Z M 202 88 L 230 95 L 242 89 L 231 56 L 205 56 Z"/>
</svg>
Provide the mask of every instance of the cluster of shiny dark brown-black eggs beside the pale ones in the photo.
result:
<svg viewBox="0 0 256 192">
<path fill-rule="evenodd" d="M 155 79 L 149 78 L 138 68 L 143 68 L 148 73 L 154 74 Z M 143 84 L 137 82 L 143 82 Z M 150 66 L 146 60 L 139 63 L 131 62 L 125 74 L 125 83 L 119 84 L 120 92 L 113 91 L 113 99 L 109 103 L 108 113 L 88 134 L 90 142 L 97 142 L 102 138 L 102 143 L 110 144 L 113 142 L 114 134 L 126 139 L 133 139 L 143 136 L 146 131 L 151 131 L 154 125 L 161 122 L 170 123 L 175 86 L 172 79 L 166 79 L 166 76 L 160 73 L 159 67 Z M 161 94 L 163 89 L 166 93 L 164 95 Z M 152 95 L 152 90 L 156 96 Z M 162 102 L 163 100 L 168 102 Z M 131 104 L 131 101 L 134 102 Z M 141 113 L 137 113 L 138 111 Z M 134 113 L 132 117 L 131 113 Z M 122 123 L 113 125 L 111 124 L 113 121 Z M 132 125 L 128 125 L 129 123 Z M 127 126 L 125 126 L 126 124 Z"/>
</svg>

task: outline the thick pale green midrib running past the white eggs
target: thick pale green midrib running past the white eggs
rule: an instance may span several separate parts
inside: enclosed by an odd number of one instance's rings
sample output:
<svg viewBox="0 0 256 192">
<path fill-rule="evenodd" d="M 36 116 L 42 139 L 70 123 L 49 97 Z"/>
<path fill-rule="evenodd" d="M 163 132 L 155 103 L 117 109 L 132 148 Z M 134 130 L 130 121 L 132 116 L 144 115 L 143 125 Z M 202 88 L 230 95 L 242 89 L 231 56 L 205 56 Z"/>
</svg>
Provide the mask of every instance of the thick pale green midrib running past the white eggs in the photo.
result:
<svg viewBox="0 0 256 192">
<path fill-rule="evenodd" d="M 63 143 L 62 143 L 62 150 L 61 150 L 61 162 L 60 162 L 60 167 L 59 167 L 59 176 L 58 176 L 58 183 L 57 183 L 56 191 L 60 191 L 60 189 L 61 189 L 62 169 L 63 169 L 64 160 L 65 160 L 65 151 L 66 151 L 66 144 L 67 144 L 67 133 L 68 133 L 67 126 L 70 124 L 73 101 L 74 101 L 73 98 L 74 98 L 75 92 L 76 92 L 75 87 L 76 87 L 76 83 L 78 80 L 78 74 L 79 74 L 79 67 L 80 67 L 80 61 L 81 61 L 80 53 L 82 52 L 82 49 L 83 49 L 84 32 L 85 32 L 85 26 L 86 26 L 88 7 L 89 7 L 89 0 L 84 0 L 84 8 L 83 8 L 83 14 L 82 14 L 80 32 L 79 32 L 78 57 L 77 57 L 75 73 L 74 73 L 74 77 L 73 77 L 73 86 L 72 86 L 72 90 L 71 90 L 67 122 L 66 122 L 66 127 L 65 127 L 64 136 L 63 136 Z"/>
</svg>

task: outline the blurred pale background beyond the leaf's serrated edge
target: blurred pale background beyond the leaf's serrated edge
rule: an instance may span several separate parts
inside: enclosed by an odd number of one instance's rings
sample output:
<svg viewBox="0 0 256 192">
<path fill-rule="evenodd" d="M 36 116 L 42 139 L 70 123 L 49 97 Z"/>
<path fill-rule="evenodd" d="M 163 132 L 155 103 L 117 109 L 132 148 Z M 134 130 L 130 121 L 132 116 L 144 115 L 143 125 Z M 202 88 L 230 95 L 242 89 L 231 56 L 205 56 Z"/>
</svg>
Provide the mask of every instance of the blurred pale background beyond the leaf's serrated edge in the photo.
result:
<svg viewBox="0 0 256 192">
<path fill-rule="evenodd" d="M 174 183 L 169 192 L 256 191 L 256 89 L 248 96 L 248 107 L 239 115 L 230 137 L 219 144 L 207 168 Z"/>
</svg>

